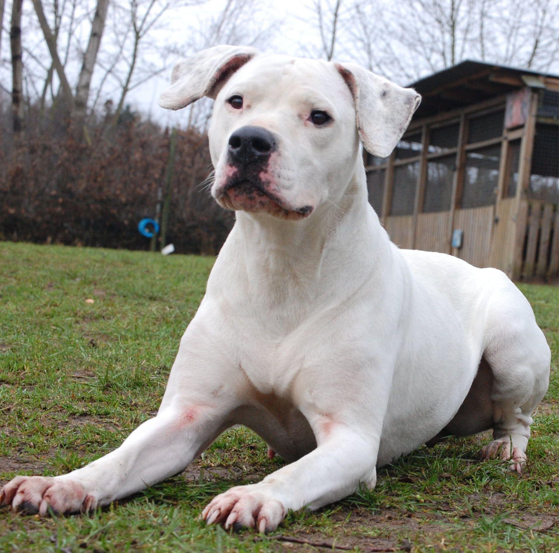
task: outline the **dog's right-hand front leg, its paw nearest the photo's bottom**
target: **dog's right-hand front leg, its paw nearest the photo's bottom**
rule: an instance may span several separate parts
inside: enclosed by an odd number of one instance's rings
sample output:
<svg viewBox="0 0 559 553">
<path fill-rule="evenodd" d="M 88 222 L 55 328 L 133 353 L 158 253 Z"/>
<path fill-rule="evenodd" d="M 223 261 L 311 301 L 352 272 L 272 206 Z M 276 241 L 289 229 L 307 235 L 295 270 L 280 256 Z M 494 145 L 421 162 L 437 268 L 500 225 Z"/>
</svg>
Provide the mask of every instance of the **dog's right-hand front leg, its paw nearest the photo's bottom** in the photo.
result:
<svg viewBox="0 0 559 553">
<path fill-rule="evenodd" d="M 207 523 L 268 532 L 289 509 L 317 509 L 347 497 L 361 483 L 375 486 L 390 378 L 376 380 L 375 389 L 370 382 L 356 381 L 345 398 L 337 394 L 344 387 L 348 391 L 347 382 L 328 378 L 320 382 L 316 376 L 310 380 L 307 395 L 318 399 L 300 408 L 315 434 L 316 449 L 258 484 L 236 486 L 218 495 L 202 512 Z"/>
</svg>

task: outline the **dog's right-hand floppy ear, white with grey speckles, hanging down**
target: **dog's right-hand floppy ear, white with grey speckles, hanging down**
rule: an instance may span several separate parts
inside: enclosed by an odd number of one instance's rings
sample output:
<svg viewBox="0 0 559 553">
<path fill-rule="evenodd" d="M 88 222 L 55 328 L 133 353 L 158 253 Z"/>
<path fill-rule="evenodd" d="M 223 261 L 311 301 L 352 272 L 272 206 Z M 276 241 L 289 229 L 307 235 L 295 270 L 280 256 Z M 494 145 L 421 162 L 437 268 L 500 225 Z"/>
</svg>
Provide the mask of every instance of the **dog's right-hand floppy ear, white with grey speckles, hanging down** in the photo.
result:
<svg viewBox="0 0 559 553">
<path fill-rule="evenodd" d="M 355 103 L 357 130 L 367 152 L 386 158 L 421 102 L 413 88 L 402 88 L 354 63 L 335 63 Z"/>
</svg>

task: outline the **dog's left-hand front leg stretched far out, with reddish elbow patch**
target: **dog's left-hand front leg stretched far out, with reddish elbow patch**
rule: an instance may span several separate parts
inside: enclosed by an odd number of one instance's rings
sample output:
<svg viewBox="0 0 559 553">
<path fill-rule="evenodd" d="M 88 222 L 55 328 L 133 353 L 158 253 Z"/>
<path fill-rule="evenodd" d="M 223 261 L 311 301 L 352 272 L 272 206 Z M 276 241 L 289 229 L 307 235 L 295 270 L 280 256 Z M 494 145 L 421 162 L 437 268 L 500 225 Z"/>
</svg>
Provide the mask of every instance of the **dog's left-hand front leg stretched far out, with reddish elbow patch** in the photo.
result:
<svg viewBox="0 0 559 553">
<path fill-rule="evenodd" d="M 55 477 L 16 476 L 0 491 L 0 504 L 40 514 L 49 507 L 89 511 L 181 472 L 230 426 L 238 403 L 236 373 L 221 361 L 207 339 L 187 330 L 156 417 L 82 469 Z"/>
</svg>

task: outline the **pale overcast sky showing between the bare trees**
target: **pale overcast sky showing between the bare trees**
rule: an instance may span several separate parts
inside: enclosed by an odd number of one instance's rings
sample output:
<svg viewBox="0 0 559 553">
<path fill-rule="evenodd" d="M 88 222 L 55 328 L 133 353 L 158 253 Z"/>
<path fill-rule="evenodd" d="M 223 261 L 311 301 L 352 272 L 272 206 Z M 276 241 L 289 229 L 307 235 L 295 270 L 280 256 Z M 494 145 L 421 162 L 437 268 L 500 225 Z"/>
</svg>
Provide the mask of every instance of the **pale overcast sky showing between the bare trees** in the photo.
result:
<svg viewBox="0 0 559 553">
<path fill-rule="evenodd" d="M 49 6 L 53 0 L 42 0 L 45 5 L 45 10 L 49 13 Z M 58 0 L 59 5 L 64 5 L 64 0 Z M 91 12 L 96 0 L 77 0 L 82 2 L 83 6 L 88 6 Z M 158 0 L 159 2 L 164 2 L 165 0 Z M 140 81 L 143 77 L 142 72 L 145 74 L 150 74 L 150 71 L 157 70 L 159 68 L 165 67 L 165 70 L 160 73 L 157 77 L 151 78 L 149 81 L 140 84 L 138 87 L 134 88 L 126 97 L 126 103 L 129 103 L 134 110 L 138 110 L 145 115 L 149 115 L 152 119 L 159 121 L 162 124 L 179 126 L 185 125 L 185 120 L 187 118 L 187 110 L 182 110 L 179 112 L 172 112 L 168 110 L 163 110 L 158 106 L 159 94 L 163 91 L 165 86 L 167 86 L 170 79 L 170 72 L 172 70 L 173 64 L 177 62 L 181 56 L 177 53 L 179 50 L 183 50 L 188 53 L 193 53 L 200 48 L 197 45 L 203 44 L 203 30 L 208 29 L 209 21 L 215 18 L 216 15 L 222 12 L 227 0 L 172 0 L 173 2 L 200 2 L 198 6 L 190 7 L 179 7 L 168 10 L 160 18 L 157 24 L 157 28 L 151 31 L 150 35 L 146 37 L 142 48 L 140 48 L 139 56 L 139 67 L 135 73 L 135 78 Z M 291 55 L 302 55 L 316 57 L 319 55 L 320 49 L 320 35 L 318 31 L 318 25 L 316 24 L 316 15 L 312 10 L 312 6 L 315 3 L 314 0 L 243 0 L 245 2 L 253 2 L 252 10 L 249 12 L 249 17 L 245 17 L 243 20 L 243 29 L 239 32 L 243 34 L 245 30 L 248 37 L 262 32 L 262 37 L 260 37 L 258 47 L 264 51 L 276 51 L 278 53 L 286 53 Z M 406 6 L 410 6 L 408 3 Z M 473 0 L 472 0 L 473 1 Z M 518 10 L 518 6 L 523 6 L 523 2 L 529 2 L 532 0 L 493 0 L 491 3 L 487 3 L 487 6 L 494 8 L 494 13 L 487 20 L 487 26 L 489 27 L 489 35 L 487 38 L 487 45 L 490 49 L 497 52 L 500 47 L 507 41 L 508 36 L 506 35 L 506 25 L 503 21 L 507 19 L 509 21 L 518 22 L 518 29 L 525 30 L 528 28 L 530 20 L 537 19 L 537 16 L 531 15 L 529 10 Z M 552 2 L 559 6 L 559 0 L 539 0 L 541 2 Z M 335 0 L 330 0 L 330 3 L 334 3 Z M 323 0 L 323 4 L 328 3 L 328 0 Z M 71 2 L 68 0 L 67 5 Z M 116 6 L 129 5 L 129 0 L 111 0 L 111 7 L 108 11 L 107 25 L 105 33 L 103 34 L 103 41 L 101 44 L 101 53 L 98 61 L 101 66 L 105 64 L 105 67 L 110 65 L 111 56 L 114 56 L 117 51 L 117 43 L 119 41 L 119 32 L 123 29 L 124 21 L 127 21 L 128 14 L 126 11 L 118 12 Z M 349 0 L 344 0 L 342 2 L 342 7 L 350 6 L 352 2 Z M 139 0 L 139 5 L 142 4 L 142 0 Z M 387 31 L 382 23 L 378 21 L 382 20 L 382 15 L 384 13 L 397 14 L 401 10 L 401 6 L 404 5 L 402 2 L 394 2 L 392 0 L 369 0 L 369 11 L 367 12 L 367 17 L 363 20 L 366 21 L 367 29 L 371 30 L 371 35 L 373 36 L 372 43 L 376 46 L 379 41 L 385 40 L 388 36 L 389 39 L 392 37 L 391 34 L 387 34 Z M 443 4 L 444 5 L 444 4 Z M 470 4 L 463 3 L 464 6 L 469 6 Z M 476 4 L 481 6 L 481 4 Z M 483 4 L 485 5 L 485 3 Z M 372 6 L 372 7 L 371 7 Z M 81 8 L 83 13 L 84 8 Z M 402 12 L 402 16 L 408 17 L 405 25 L 402 26 L 404 34 L 410 35 L 410 40 L 415 42 L 418 41 L 417 36 L 411 36 L 413 33 L 408 32 L 408 26 L 413 26 L 415 20 L 419 20 L 425 17 L 425 13 L 422 14 L 420 11 L 416 10 L 416 6 L 413 5 L 407 9 L 407 12 Z M 559 8 L 555 6 L 555 13 L 559 13 Z M 10 64 L 10 13 L 11 13 L 11 0 L 6 0 L 6 10 L 4 13 L 4 24 L 3 24 L 3 34 L 2 34 L 2 45 L 0 51 L 1 63 L 0 63 L 0 84 L 4 91 L 4 97 L 6 101 L 9 102 L 9 92 L 11 89 L 11 64 Z M 38 23 L 36 21 L 36 16 L 34 13 L 34 8 L 31 2 L 23 2 L 23 25 L 22 25 L 22 36 L 23 36 L 23 46 L 25 51 L 23 53 L 23 63 L 25 65 L 25 75 L 26 82 L 24 87 L 26 92 L 31 97 L 40 97 L 42 82 L 44 82 L 44 75 L 46 74 L 46 69 L 50 64 L 50 56 L 44 38 L 39 29 Z M 397 17 L 397 15 L 396 15 Z M 398 20 L 399 21 L 399 20 Z M 557 21 L 552 19 L 552 25 L 557 26 Z M 353 30 L 353 26 L 348 26 Z M 425 30 L 427 35 L 427 45 L 428 42 L 437 41 L 436 37 L 437 30 L 432 29 L 429 23 L 423 24 L 420 29 Z M 270 29 L 268 32 L 267 30 Z M 68 80 L 72 86 L 77 80 L 77 75 L 81 67 L 81 62 L 79 59 L 78 52 L 83 50 L 87 44 L 89 31 L 91 30 L 91 25 L 86 20 L 82 26 L 72 34 L 70 37 L 71 44 L 74 45 L 74 55 L 70 56 L 67 65 Z M 501 32 L 501 35 L 499 35 Z M 434 38 L 429 35 L 432 34 Z M 479 55 L 476 55 L 476 42 L 475 34 L 472 34 L 469 41 L 465 41 L 466 45 L 466 55 L 465 58 L 470 59 L 480 59 Z M 553 35 L 552 35 L 553 36 Z M 557 33 L 559 36 L 559 32 Z M 520 39 L 514 44 L 517 44 L 519 48 L 523 47 L 523 36 L 520 35 Z M 63 36 L 62 42 L 65 42 L 67 37 Z M 425 40 L 425 37 L 423 37 Z M 552 39 L 553 40 L 553 39 Z M 559 39 L 558 39 L 559 40 Z M 60 39 L 59 39 L 60 42 Z M 383 69 L 379 72 L 385 76 L 391 78 L 399 84 L 409 84 L 414 79 L 409 75 L 410 73 L 415 73 L 416 77 L 433 72 L 433 68 L 440 69 L 440 63 L 435 63 L 430 68 L 431 60 L 428 59 L 430 54 L 427 54 L 423 62 L 420 63 L 417 54 L 424 54 L 425 50 L 422 49 L 418 53 L 413 51 L 414 44 L 410 44 L 410 48 L 402 49 L 401 44 L 396 45 L 396 63 L 390 63 L 389 65 L 384 65 Z M 129 47 L 129 46 L 128 46 Z M 63 45 L 59 48 L 59 53 Z M 392 48 L 392 44 L 390 45 Z M 473 53 L 470 50 L 473 48 Z M 529 48 L 529 45 L 527 46 Z M 399 49 L 399 50 L 398 50 Z M 375 48 L 374 50 L 377 50 Z M 522 65 L 522 63 L 517 62 L 520 59 L 520 55 L 517 56 L 516 50 L 513 54 L 509 56 L 511 60 L 509 65 Z M 394 54 L 394 52 L 392 52 Z M 355 47 L 355 43 L 352 43 L 351 38 L 345 36 L 345 40 L 335 53 L 335 58 L 341 60 L 356 60 L 359 61 L 359 51 Z M 361 54 L 362 55 L 362 54 Z M 503 58 L 504 53 L 499 54 L 500 58 Z M 436 57 L 435 55 L 433 56 Z M 378 61 L 378 60 L 377 60 Z M 397 67 L 398 62 L 401 61 L 401 68 Z M 559 70 L 558 60 L 549 60 L 551 65 L 548 70 L 557 72 Z M 381 64 L 382 65 L 382 64 Z M 97 67 L 93 74 L 93 92 L 94 89 L 98 87 L 98 84 L 102 80 L 103 69 L 102 67 Z M 116 70 L 119 70 L 122 76 L 123 71 L 126 69 L 124 67 L 117 66 Z M 405 71 L 408 71 L 408 75 Z M 36 75 L 34 79 L 32 75 Z M 415 77 L 415 78 L 416 78 Z M 54 78 L 55 83 L 57 83 L 56 77 Z M 56 88 L 56 87 L 55 87 Z M 103 103 L 111 98 L 115 103 L 119 98 L 119 85 L 112 79 L 106 79 L 105 86 L 102 88 L 103 94 L 100 96 L 97 107 L 102 107 Z M 93 94 L 94 96 L 94 94 Z M 92 101 L 90 101 L 91 105 Z"/>
</svg>

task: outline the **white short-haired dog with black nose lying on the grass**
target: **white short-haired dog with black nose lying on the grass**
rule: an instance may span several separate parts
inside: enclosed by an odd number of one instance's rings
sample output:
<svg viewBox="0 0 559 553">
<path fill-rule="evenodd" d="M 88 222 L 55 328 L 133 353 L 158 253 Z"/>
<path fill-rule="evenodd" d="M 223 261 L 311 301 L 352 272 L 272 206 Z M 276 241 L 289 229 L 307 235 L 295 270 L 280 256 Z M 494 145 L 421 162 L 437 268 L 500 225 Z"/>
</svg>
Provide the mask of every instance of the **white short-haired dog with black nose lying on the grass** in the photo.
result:
<svg viewBox="0 0 559 553">
<path fill-rule="evenodd" d="M 492 428 L 482 457 L 520 472 L 550 352 L 504 273 L 400 250 L 367 202 L 419 94 L 354 64 L 217 46 L 181 62 L 160 104 L 215 98 L 212 195 L 236 223 L 186 329 L 157 417 L 63 476 L 17 476 L 13 508 L 59 513 L 181 472 L 240 423 L 291 464 L 204 509 L 276 528 L 288 509 L 375 486 L 376 466 Z"/>
</svg>

